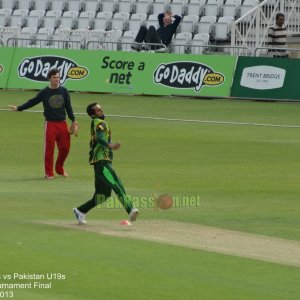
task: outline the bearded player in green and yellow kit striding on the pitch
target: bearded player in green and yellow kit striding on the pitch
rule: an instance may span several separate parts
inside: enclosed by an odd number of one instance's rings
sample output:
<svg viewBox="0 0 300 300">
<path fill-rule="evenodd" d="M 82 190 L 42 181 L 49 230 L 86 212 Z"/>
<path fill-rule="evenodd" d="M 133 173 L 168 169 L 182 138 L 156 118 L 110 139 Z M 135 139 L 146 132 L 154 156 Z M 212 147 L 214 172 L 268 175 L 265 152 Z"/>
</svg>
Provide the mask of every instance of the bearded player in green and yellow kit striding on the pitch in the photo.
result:
<svg viewBox="0 0 300 300">
<path fill-rule="evenodd" d="M 118 150 L 121 144 L 112 143 L 109 125 L 98 103 L 89 104 L 86 112 L 92 118 L 89 163 L 94 166 L 95 193 L 91 200 L 73 209 L 78 223 L 86 224 L 85 215 L 88 211 L 106 201 L 112 190 L 128 213 L 129 221 L 135 221 L 139 211 L 133 207 L 121 180 L 112 168 L 113 151 Z"/>
</svg>

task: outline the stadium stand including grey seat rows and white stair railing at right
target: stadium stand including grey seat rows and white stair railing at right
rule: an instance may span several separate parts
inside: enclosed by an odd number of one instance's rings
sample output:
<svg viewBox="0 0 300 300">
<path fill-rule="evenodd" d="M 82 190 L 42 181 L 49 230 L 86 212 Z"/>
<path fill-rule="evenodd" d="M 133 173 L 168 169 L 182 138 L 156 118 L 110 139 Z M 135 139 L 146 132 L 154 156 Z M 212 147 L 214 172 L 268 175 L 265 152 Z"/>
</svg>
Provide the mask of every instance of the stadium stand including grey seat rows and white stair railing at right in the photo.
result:
<svg viewBox="0 0 300 300">
<path fill-rule="evenodd" d="M 259 8 L 261 2 L 264 6 Z M 158 13 L 170 10 L 173 14 L 183 17 L 174 35 L 171 51 L 205 53 L 205 47 L 200 45 L 207 43 L 216 46 L 231 45 L 232 36 L 235 38 L 233 45 L 252 47 L 255 43 L 254 34 L 257 33 L 257 29 L 254 28 L 256 22 L 253 22 L 258 15 L 256 9 L 261 11 L 260 26 L 263 34 L 263 29 L 269 23 L 273 23 L 274 7 L 277 6 L 278 10 L 279 2 L 279 0 L 0 0 L 2 32 L 0 44 L 6 46 L 9 39 L 24 39 L 26 36 L 32 40 L 31 31 L 23 29 L 29 27 L 36 28 L 35 39 L 43 41 L 40 43 L 41 47 L 52 45 L 72 48 L 74 45 L 76 49 L 85 49 L 88 48 L 89 41 L 91 41 L 89 47 L 99 40 L 117 43 L 114 37 L 118 36 L 117 40 L 121 46 L 116 48 L 113 45 L 112 48 L 128 51 L 129 47 L 123 45 L 123 37 L 124 43 L 125 41 L 130 43 L 132 32 L 138 31 L 141 24 L 153 25 L 157 28 Z M 299 9 L 294 2 L 292 0 L 284 2 L 286 13 L 289 14 L 289 23 L 293 23 L 288 25 L 290 30 L 300 31 Z M 245 14 L 247 17 L 244 17 Z M 232 23 L 237 20 L 239 23 Z M 231 24 L 234 26 L 232 27 Z M 232 36 L 231 27 L 235 31 Z M 52 32 L 48 31 L 50 28 L 53 29 Z M 114 31 L 116 33 L 112 34 Z M 191 47 L 188 45 L 182 47 L 185 37 L 179 33 L 192 35 L 188 39 Z M 66 38 L 64 43 L 59 43 L 59 46 L 53 45 L 52 41 L 62 40 L 64 37 Z M 113 38 L 114 42 L 112 42 Z M 49 41 L 46 43 L 45 39 Z M 74 43 L 68 43 L 70 39 Z M 180 47 L 176 47 L 174 42 Z M 81 43 L 80 47 L 79 43 Z M 36 44 L 38 47 L 38 42 Z M 10 42 L 10 45 L 19 46 L 20 43 Z M 32 46 L 31 43 L 26 45 Z M 196 45 L 199 45 L 198 50 L 195 50 Z M 103 45 L 101 47 L 103 48 Z"/>
</svg>

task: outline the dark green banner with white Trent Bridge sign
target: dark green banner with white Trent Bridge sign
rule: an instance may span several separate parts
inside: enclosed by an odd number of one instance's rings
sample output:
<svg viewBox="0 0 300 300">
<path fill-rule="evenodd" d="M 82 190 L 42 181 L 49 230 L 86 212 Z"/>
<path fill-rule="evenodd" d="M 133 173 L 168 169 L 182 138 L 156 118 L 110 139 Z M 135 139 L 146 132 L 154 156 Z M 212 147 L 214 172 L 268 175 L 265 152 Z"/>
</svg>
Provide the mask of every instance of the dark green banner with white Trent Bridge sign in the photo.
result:
<svg viewBox="0 0 300 300">
<path fill-rule="evenodd" d="M 300 100 L 300 61 L 288 58 L 240 57 L 231 96 Z"/>
</svg>

